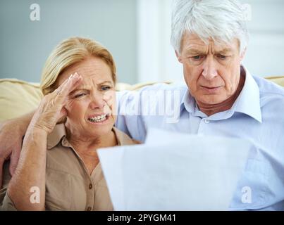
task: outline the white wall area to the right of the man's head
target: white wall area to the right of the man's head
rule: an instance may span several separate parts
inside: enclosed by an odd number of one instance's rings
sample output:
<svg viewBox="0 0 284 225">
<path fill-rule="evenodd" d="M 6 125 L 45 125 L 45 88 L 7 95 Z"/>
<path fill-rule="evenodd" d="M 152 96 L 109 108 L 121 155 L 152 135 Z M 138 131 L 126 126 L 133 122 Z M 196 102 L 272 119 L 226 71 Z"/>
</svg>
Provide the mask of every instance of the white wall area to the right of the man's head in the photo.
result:
<svg viewBox="0 0 284 225">
<path fill-rule="evenodd" d="M 252 7 L 244 64 L 261 77 L 284 75 L 284 1 L 246 0 Z"/>
</svg>

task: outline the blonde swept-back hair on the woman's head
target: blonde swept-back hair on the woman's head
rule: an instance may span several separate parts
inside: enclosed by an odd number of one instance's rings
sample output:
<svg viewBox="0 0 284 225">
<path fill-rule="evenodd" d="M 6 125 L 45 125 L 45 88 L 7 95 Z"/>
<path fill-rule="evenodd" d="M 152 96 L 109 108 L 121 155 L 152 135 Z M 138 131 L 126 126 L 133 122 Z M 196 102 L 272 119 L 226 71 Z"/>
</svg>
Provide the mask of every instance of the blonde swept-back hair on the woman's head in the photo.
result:
<svg viewBox="0 0 284 225">
<path fill-rule="evenodd" d="M 111 76 L 116 84 L 116 65 L 111 53 L 97 41 L 82 37 L 71 37 L 63 40 L 51 52 L 42 70 L 41 89 L 44 95 L 56 89 L 56 79 L 71 65 L 82 62 L 89 56 L 101 58 L 109 65 Z"/>
</svg>

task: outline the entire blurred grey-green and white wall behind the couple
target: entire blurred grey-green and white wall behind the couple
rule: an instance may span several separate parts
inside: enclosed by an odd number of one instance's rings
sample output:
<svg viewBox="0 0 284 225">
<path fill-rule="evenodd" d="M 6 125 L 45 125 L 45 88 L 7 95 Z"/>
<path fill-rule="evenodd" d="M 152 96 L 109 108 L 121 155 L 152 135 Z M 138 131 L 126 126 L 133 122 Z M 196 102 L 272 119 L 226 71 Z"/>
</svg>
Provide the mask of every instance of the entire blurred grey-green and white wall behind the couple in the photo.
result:
<svg viewBox="0 0 284 225">
<path fill-rule="evenodd" d="M 284 1 L 249 4 L 250 41 L 244 65 L 261 77 L 284 75 Z M 39 82 L 63 39 L 89 37 L 113 54 L 118 82 L 183 80 L 170 44 L 172 0 L 1 0 L 0 78 Z M 39 20 L 31 20 L 39 6 Z M 38 15 L 37 15 L 38 16 Z"/>
</svg>

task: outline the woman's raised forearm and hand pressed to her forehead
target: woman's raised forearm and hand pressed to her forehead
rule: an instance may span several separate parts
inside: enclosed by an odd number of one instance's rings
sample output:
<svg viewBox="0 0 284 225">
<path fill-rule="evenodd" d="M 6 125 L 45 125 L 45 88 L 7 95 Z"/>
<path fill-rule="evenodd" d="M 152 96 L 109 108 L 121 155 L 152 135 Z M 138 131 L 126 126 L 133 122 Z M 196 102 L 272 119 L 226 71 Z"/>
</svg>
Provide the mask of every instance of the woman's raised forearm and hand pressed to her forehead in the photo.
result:
<svg viewBox="0 0 284 225">
<path fill-rule="evenodd" d="M 44 210 L 47 135 L 58 119 L 66 115 L 64 105 L 69 93 L 81 80 L 78 75 L 66 79 L 56 91 L 44 96 L 32 117 L 7 191 L 17 210 Z"/>
</svg>

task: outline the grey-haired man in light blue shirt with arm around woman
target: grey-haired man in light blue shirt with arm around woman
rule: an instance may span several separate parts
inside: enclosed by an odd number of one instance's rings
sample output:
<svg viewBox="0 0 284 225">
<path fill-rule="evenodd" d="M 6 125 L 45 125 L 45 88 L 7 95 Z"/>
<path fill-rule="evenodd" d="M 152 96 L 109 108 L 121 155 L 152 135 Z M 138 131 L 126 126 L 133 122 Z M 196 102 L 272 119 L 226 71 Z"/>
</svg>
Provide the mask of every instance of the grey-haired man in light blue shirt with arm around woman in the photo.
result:
<svg viewBox="0 0 284 225">
<path fill-rule="evenodd" d="M 156 84 L 136 93 L 118 94 L 116 126 L 140 141 L 149 127 L 249 139 L 258 151 L 247 162 L 230 210 L 284 210 L 284 90 L 250 75 L 242 66 L 247 37 L 238 1 L 175 1 L 171 43 L 183 64 L 186 85 Z M 178 95 L 170 100 L 178 105 L 173 110 L 178 112 L 178 120 L 168 122 L 166 113 L 143 113 L 144 108 L 159 111 L 159 103 L 149 104 L 144 93 L 165 96 L 176 91 Z M 161 101 L 156 96 L 153 99 Z M 133 107 L 139 109 L 137 114 L 126 112 Z M 12 156 L 16 155 L 12 160 L 17 161 L 20 139 L 15 136 L 24 134 L 29 118 L 25 115 L 3 125 L 1 161 L 12 150 Z"/>
</svg>

